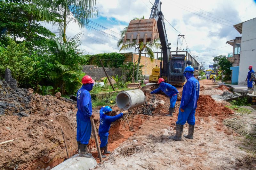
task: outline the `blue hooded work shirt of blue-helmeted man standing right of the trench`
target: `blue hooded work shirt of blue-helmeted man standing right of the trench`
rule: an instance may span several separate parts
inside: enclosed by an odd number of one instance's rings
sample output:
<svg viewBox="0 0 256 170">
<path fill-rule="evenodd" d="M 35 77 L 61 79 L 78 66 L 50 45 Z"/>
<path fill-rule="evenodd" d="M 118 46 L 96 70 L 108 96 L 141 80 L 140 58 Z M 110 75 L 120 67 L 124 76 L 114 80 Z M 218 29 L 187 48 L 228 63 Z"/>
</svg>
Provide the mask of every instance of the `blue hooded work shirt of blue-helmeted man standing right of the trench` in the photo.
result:
<svg viewBox="0 0 256 170">
<path fill-rule="evenodd" d="M 197 81 L 191 73 L 187 73 L 186 79 L 187 82 L 182 90 L 180 108 L 183 110 L 185 110 L 185 108 L 196 109 L 200 89 L 199 81 Z"/>
</svg>

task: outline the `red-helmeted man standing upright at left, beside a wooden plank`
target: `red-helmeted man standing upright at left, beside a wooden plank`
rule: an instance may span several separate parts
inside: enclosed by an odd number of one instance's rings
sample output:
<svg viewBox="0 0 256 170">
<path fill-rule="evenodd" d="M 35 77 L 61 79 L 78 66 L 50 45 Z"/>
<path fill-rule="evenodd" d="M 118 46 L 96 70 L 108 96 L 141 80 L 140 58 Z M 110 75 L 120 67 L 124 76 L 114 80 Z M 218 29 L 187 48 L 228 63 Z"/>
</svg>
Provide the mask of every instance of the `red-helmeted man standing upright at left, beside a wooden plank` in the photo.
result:
<svg viewBox="0 0 256 170">
<path fill-rule="evenodd" d="M 78 153 L 80 157 L 90 158 L 91 153 L 87 152 L 87 145 L 91 138 L 92 124 L 90 117 L 94 117 L 92 113 L 92 100 L 89 91 L 92 90 L 94 80 L 89 75 L 82 78 L 83 86 L 76 93 L 76 141 L 78 145 Z"/>
</svg>

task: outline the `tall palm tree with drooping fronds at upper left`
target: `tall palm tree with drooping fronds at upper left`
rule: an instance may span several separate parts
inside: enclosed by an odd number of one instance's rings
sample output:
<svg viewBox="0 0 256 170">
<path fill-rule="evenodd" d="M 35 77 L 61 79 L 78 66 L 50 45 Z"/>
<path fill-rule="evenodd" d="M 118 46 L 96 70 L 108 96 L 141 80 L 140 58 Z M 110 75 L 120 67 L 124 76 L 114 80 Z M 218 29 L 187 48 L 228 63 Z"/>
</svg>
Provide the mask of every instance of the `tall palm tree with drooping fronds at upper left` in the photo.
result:
<svg viewBox="0 0 256 170">
<path fill-rule="evenodd" d="M 80 28 L 88 24 L 88 19 L 98 15 L 98 8 L 93 7 L 98 0 L 32 0 L 36 4 L 36 16 L 47 23 L 59 26 L 63 42 L 66 42 L 66 28 L 75 22 Z"/>
</svg>

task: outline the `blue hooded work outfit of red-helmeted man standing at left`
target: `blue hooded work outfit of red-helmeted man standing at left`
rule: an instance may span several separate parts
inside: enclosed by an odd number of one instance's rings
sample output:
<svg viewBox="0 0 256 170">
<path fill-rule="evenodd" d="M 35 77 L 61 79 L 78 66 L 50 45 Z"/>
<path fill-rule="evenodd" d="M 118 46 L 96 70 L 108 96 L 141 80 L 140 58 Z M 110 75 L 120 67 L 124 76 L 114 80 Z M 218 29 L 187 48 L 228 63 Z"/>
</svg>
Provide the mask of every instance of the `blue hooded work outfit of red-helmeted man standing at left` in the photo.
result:
<svg viewBox="0 0 256 170">
<path fill-rule="evenodd" d="M 92 87 L 93 83 L 84 84 L 76 93 L 76 140 L 81 144 L 88 144 L 91 138 L 92 99 L 89 91 Z"/>
</svg>

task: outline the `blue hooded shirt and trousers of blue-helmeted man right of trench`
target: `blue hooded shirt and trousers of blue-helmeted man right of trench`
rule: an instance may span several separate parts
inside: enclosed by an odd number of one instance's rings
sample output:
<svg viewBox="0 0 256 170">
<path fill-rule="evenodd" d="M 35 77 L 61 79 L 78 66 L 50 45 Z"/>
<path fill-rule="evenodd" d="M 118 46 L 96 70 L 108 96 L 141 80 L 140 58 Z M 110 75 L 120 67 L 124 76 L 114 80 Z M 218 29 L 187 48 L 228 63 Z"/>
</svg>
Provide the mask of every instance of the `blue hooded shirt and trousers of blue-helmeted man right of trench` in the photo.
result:
<svg viewBox="0 0 256 170">
<path fill-rule="evenodd" d="M 195 113 L 200 87 L 199 82 L 196 80 L 193 74 L 187 72 L 186 79 L 187 82 L 183 87 L 180 102 L 180 109 L 185 111 L 181 112 L 179 109 L 179 115 L 176 124 L 183 125 L 188 121 L 188 124 L 195 125 Z"/>
</svg>

